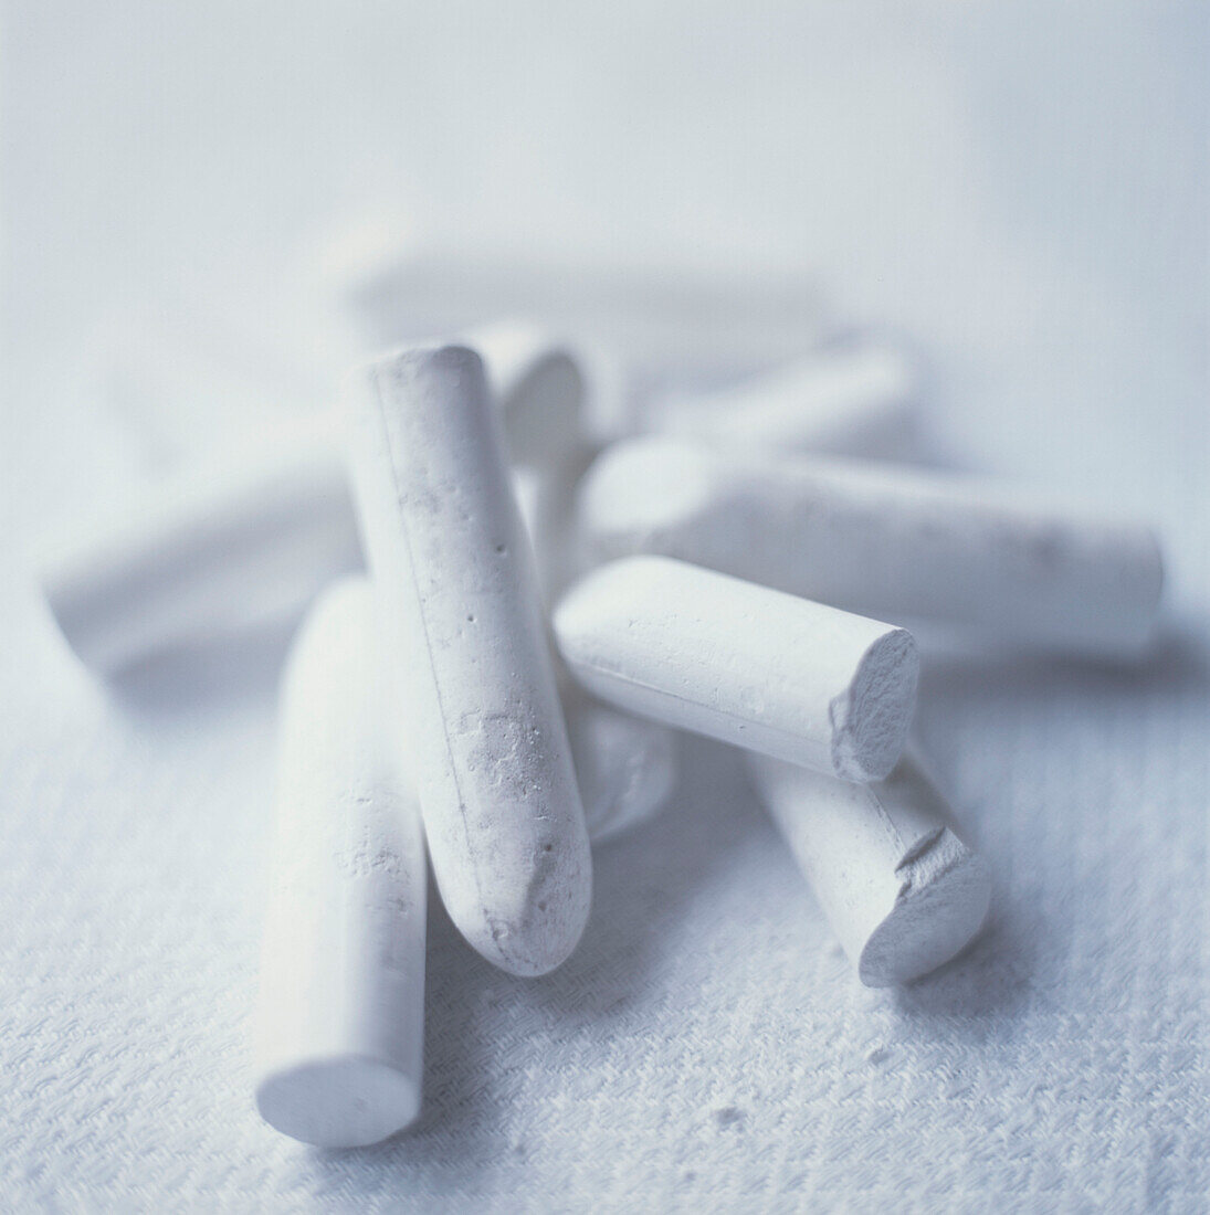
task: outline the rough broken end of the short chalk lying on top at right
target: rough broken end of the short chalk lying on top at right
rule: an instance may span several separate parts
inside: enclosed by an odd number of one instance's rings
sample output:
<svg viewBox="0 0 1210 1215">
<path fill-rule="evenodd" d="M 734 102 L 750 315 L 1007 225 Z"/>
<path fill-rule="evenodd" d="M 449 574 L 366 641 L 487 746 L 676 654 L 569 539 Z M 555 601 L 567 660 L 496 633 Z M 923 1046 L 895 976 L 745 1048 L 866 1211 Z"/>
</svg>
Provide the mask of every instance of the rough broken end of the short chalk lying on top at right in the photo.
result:
<svg viewBox="0 0 1210 1215">
<path fill-rule="evenodd" d="M 889 628 L 862 655 L 831 705 L 832 765 L 842 780 L 883 780 L 899 763 L 916 710 L 921 657 L 906 628 Z"/>
</svg>

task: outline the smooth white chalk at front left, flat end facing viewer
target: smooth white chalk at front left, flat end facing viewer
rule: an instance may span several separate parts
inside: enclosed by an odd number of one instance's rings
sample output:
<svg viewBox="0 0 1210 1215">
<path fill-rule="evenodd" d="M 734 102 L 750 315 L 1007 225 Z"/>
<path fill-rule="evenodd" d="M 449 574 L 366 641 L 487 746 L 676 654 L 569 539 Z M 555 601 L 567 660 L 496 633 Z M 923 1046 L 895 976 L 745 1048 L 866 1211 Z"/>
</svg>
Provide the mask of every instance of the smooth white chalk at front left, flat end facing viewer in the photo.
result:
<svg viewBox="0 0 1210 1215">
<path fill-rule="evenodd" d="M 321 1147 L 385 1138 L 421 1101 L 424 842 L 372 606 L 362 578 L 328 590 L 282 683 L 255 1098 Z"/>
</svg>

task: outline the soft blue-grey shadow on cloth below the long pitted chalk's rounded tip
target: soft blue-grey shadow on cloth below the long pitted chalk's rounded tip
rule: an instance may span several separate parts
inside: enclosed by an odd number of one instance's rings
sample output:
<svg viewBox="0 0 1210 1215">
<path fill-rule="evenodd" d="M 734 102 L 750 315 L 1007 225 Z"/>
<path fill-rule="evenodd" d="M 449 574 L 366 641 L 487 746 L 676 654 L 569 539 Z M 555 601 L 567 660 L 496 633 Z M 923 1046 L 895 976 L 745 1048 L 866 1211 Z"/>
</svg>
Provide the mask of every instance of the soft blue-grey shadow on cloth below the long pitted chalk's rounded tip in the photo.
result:
<svg viewBox="0 0 1210 1215">
<path fill-rule="evenodd" d="M 501 1145 L 500 1109 L 511 1068 L 535 1034 L 552 1049 L 612 1024 L 649 1033 L 645 1001 L 662 951 L 698 899 L 709 899 L 756 808 L 730 747 L 682 740 L 681 780 L 649 823 L 597 848 L 593 906 L 580 948 L 558 970 L 522 979 L 496 970 L 458 936 L 434 891 L 429 899 L 426 978 L 424 1095 L 416 1123 L 356 1153 L 366 1192 L 385 1179 L 423 1172 L 440 1187 L 451 1169 L 460 1185 L 491 1165 Z M 315 1151 L 317 1166 L 348 1186 L 349 1153 Z M 378 1165 L 365 1172 L 367 1164 Z M 468 1171 L 469 1170 L 469 1171 Z"/>
</svg>

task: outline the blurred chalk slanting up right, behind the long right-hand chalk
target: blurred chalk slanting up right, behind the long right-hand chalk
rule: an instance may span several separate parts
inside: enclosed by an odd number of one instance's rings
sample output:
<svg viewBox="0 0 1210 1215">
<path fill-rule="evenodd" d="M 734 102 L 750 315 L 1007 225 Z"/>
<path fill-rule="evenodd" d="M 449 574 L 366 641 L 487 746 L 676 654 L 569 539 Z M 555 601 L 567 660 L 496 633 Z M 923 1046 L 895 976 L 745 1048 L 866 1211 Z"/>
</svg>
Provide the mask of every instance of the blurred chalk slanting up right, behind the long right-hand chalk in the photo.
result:
<svg viewBox="0 0 1210 1215">
<path fill-rule="evenodd" d="M 914 446 L 919 379 L 905 351 L 866 341 L 820 350 L 721 391 L 653 401 L 646 424 L 728 451 L 902 459 Z"/>
</svg>

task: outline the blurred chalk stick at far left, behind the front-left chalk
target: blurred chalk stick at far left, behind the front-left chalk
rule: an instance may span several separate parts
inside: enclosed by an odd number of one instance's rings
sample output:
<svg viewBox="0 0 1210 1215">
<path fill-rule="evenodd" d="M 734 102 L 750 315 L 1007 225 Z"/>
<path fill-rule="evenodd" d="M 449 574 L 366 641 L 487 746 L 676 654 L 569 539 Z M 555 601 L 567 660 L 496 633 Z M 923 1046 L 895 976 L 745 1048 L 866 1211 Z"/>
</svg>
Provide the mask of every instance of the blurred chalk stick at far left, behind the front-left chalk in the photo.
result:
<svg viewBox="0 0 1210 1215">
<path fill-rule="evenodd" d="M 360 564 L 339 453 L 303 443 L 181 479 L 128 518 L 86 526 L 46 561 L 43 588 L 79 657 L 114 674 L 297 614 Z"/>
</svg>

